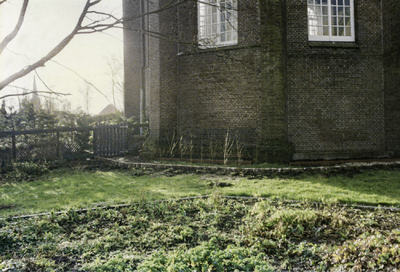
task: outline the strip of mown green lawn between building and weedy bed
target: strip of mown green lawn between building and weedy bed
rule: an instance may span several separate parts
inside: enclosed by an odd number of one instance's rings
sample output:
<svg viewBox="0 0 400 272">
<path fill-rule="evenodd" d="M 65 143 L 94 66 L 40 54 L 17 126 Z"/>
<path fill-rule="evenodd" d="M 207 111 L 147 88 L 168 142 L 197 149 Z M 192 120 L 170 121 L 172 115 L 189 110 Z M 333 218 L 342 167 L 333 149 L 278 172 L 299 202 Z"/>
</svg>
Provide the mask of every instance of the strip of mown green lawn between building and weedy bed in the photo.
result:
<svg viewBox="0 0 400 272">
<path fill-rule="evenodd" d="M 210 186 L 222 182 L 229 186 Z M 0 216 L 180 198 L 214 191 L 221 195 L 400 206 L 400 171 L 370 170 L 350 177 L 248 179 L 134 169 L 57 169 L 34 181 L 0 184 Z"/>
</svg>

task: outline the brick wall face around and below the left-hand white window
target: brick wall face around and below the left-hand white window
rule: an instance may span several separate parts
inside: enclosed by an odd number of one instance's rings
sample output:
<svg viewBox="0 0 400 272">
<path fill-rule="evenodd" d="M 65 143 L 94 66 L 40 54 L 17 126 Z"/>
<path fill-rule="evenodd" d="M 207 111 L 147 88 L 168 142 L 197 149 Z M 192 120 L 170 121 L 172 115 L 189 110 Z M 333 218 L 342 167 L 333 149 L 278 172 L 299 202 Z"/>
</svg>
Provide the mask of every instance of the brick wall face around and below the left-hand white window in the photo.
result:
<svg viewBox="0 0 400 272">
<path fill-rule="evenodd" d="M 197 45 L 197 3 L 179 7 L 177 128 L 224 135 L 239 131 L 251 142 L 260 128 L 261 48 L 257 1 L 239 1 L 238 45 Z M 236 132 L 235 132 L 236 133 Z M 203 137 L 203 136 L 202 136 Z M 254 142 L 254 141 L 253 141 Z"/>
</svg>

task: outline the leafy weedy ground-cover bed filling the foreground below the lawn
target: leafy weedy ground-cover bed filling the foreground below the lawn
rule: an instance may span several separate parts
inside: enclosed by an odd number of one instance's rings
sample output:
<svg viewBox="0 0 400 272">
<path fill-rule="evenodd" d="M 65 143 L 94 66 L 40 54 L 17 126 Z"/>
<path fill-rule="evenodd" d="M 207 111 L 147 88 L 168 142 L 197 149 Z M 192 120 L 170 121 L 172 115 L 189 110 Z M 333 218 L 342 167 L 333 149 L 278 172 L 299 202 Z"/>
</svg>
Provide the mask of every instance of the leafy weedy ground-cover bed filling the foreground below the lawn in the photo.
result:
<svg viewBox="0 0 400 272">
<path fill-rule="evenodd" d="M 371 217 L 376 226 L 360 226 Z M 346 220 L 338 224 L 340 218 Z M 0 221 L 0 270 L 393 271 L 399 229 L 393 212 L 242 202 L 215 193 Z"/>
</svg>

